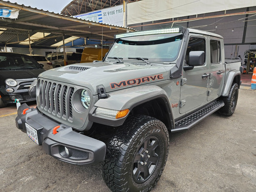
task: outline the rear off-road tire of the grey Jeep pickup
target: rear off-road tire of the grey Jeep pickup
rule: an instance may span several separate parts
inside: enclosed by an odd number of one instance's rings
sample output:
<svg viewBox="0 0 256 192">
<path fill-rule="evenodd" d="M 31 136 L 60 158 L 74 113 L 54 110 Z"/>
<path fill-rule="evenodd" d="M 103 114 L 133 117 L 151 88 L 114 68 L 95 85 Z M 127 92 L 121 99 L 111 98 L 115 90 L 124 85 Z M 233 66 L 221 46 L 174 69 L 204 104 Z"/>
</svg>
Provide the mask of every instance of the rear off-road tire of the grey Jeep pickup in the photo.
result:
<svg viewBox="0 0 256 192">
<path fill-rule="evenodd" d="M 225 105 L 219 110 L 219 113 L 226 116 L 231 116 L 236 110 L 238 102 L 238 84 L 233 83 L 227 97 L 222 97 Z"/>
</svg>

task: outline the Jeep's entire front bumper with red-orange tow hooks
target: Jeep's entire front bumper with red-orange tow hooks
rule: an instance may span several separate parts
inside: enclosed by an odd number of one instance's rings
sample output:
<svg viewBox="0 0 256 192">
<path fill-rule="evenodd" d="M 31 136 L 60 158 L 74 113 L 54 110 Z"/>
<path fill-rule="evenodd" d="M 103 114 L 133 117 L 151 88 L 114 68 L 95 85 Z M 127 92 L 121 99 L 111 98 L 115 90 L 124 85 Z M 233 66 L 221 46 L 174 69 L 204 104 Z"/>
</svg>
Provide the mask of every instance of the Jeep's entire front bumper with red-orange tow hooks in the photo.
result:
<svg viewBox="0 0 256 192">
<path fill-rule="evenodd" d="M 25 111 L 25 109 L 28 109 Z M 37 132 L 38 144 L 50 156 L 71 164 L 95 164 L 104 160 L 106 145 L 102 141 L 82 135 L 72 127 L 39 113 L 24 103 L 19 106 L 15 119 L 16 127 L 27 133 L 27 126 Z M 59 127 L 58 127 L 59 126 Z M 58 127 L 54 134 L 54 127 Z"/>
</svg>

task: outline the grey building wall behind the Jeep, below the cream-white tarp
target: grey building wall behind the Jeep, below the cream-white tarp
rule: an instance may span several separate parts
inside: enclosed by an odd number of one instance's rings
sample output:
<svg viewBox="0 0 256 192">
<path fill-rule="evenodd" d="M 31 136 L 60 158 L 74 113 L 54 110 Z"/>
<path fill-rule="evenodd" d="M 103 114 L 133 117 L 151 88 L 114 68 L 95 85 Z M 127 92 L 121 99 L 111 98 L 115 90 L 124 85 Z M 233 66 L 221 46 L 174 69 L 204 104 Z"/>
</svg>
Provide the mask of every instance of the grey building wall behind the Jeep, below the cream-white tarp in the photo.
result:
<svg viewBox="0 0 256 192">
<path fill-rule="evenodd" d="M 224 38 L 225 57 L 236 58 L 240 55 L 243 59 L 244 52 L 249 50 L 252 45 L 256 45 L 256 14 L 244 14 L 250 11 L 256 11 L 256 7 L 189 15 L 174 19 L 162 19 L 154 22 L 134 24 L 129 27 L 137 30 L 184 27 L 217 33 Z M 230 16 L 221 16 L 225 14 Z M 204 19 L 196 20 L 197 18 Z M 178 22 L 178 20 L 182 19 L 195 20 Z"/>
</svg>

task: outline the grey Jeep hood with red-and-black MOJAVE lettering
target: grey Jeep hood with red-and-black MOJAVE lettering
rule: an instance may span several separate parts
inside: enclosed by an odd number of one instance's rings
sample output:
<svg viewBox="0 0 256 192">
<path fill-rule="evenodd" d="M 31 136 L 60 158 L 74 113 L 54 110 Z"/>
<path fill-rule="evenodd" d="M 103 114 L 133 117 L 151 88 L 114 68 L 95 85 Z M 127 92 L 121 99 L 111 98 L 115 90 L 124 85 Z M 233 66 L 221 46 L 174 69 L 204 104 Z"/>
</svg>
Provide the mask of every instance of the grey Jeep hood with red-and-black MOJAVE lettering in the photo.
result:
<svg viewBox="0 0 256 192">
<path fill-rule="evenodd" d="M 100 85 L 109 93 L 166 80 L 169 78 L 171 67 L 174 65 L 166 67 L 144 63 L 92 62 L 51 69 L 39 77 L 86 87 L 96 95 L 97 87 Z"/>
</svg>

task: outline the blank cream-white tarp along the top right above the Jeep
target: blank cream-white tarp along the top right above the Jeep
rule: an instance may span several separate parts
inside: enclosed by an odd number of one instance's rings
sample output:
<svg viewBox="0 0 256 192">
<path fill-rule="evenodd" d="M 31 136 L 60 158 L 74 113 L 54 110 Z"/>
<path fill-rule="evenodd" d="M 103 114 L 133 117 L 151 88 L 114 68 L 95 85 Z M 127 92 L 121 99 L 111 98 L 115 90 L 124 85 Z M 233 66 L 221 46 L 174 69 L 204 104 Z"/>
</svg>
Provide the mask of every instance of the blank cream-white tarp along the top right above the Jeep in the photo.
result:
<svg viewBox="0 0 256 192">
<path fill-rule="evenodd" d="M 144 0 L 127 4 L 127 25 L 256 6 L 256 0 Z"/>
</svg>

